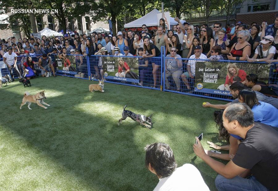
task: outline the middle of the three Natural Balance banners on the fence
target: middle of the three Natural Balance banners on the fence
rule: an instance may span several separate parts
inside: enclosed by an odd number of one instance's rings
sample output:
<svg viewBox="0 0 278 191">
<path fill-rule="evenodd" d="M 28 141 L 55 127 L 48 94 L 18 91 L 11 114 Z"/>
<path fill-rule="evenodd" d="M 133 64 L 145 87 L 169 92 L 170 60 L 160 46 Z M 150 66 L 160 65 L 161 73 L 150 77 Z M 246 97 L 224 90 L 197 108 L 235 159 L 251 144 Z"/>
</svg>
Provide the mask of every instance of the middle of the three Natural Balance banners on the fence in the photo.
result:
<svg viewBox="0 0 278 191">
<path fill-rule="evenodd" d="M 139 83 L 138 58 L 101 57 L 104 78 Z"/>
</svg>

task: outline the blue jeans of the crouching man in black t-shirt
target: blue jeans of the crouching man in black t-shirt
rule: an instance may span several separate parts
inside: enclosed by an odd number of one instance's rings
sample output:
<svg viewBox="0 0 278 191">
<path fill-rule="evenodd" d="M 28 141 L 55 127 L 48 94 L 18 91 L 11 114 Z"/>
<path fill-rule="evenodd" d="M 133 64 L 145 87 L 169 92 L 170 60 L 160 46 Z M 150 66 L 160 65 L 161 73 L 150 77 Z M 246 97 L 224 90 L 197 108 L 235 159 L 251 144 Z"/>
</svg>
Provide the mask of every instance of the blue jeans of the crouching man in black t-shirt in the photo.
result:
<svg viewBox="0 0 278 191">
<path fill-rule="evenodd" d="M 236 176 L 232 179 L 225 178 L 220 174 L 215 179 L 215 186 L 218 191 L 267 191 L 268 189 L 263 186 L 254 176 L 242 178 Z"/>
</svg>

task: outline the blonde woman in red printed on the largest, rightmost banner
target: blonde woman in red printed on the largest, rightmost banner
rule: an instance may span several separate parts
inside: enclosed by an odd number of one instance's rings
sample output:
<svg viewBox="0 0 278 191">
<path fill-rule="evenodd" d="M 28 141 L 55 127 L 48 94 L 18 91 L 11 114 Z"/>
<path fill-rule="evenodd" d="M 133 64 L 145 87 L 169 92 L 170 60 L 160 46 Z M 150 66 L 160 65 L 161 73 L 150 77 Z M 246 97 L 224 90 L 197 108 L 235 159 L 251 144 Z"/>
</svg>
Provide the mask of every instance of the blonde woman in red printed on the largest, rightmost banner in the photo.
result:
<svg viewBox="0 0 278 191">
<path fill-rule="evenodd" d="M 220 85 L 217 89 L 230 91 L 230 85 L 234 82 L 241 82 L 245 84 L 246 72 L 244 70 L 239 70 L 236 64 L 227 65 L 227 76 L 225 84 Z"/>
</svg>

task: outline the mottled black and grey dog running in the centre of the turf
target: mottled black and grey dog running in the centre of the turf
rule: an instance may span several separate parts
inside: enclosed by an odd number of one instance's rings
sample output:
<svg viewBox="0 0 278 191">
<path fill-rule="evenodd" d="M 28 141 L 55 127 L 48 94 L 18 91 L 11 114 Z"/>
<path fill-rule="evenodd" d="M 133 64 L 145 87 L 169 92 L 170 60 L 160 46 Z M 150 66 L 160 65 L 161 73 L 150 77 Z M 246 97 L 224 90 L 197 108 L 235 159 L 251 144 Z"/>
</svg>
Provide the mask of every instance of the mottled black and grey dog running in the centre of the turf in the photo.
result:
<svg viewBox="0 0 278 191">
<path fill-rule="evenodd" d="M 150 115 L 150 117 L 146 117 L 144 115 L 139 115 L 139 114 L 135 114 L 133 113 L 132 111 L 129 111 L 129 110 L 125 110 L 127 105 L 124 106 L 124 110 L 123 110 L 123 113 L 122 113 L 122 118 L 119 120 L 118 122 L 118 125 L 120 125 L 120 123 L 122 123 L 123 120 L 125 120 L 127 117 L 130 117 L 132 120 L 134 121 L 138 121 L 140 123 L 140 125 L 144 125 L 146 128 L 148 129 L 152 129 L 151 126 L 153 125 L 152 124 L 152 115 Z M 149 124 L 147 124 L 149 123 Z"/>
</svg>

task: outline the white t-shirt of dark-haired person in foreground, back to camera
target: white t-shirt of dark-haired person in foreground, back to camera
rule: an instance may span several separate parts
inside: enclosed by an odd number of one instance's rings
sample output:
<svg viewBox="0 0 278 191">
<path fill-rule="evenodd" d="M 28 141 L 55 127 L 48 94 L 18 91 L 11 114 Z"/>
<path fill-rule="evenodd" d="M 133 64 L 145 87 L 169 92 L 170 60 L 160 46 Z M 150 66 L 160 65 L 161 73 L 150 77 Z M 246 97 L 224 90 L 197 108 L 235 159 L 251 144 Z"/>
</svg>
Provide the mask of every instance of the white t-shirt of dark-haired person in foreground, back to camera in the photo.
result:
<svg viewBox="0 0 278 191">
<path fill-rule="evenodd" d="M 159 178 L 154 190 L 209 190 L 199 170 L 192 164 L 184 164 L 166 178 Z"/>
</svg>

